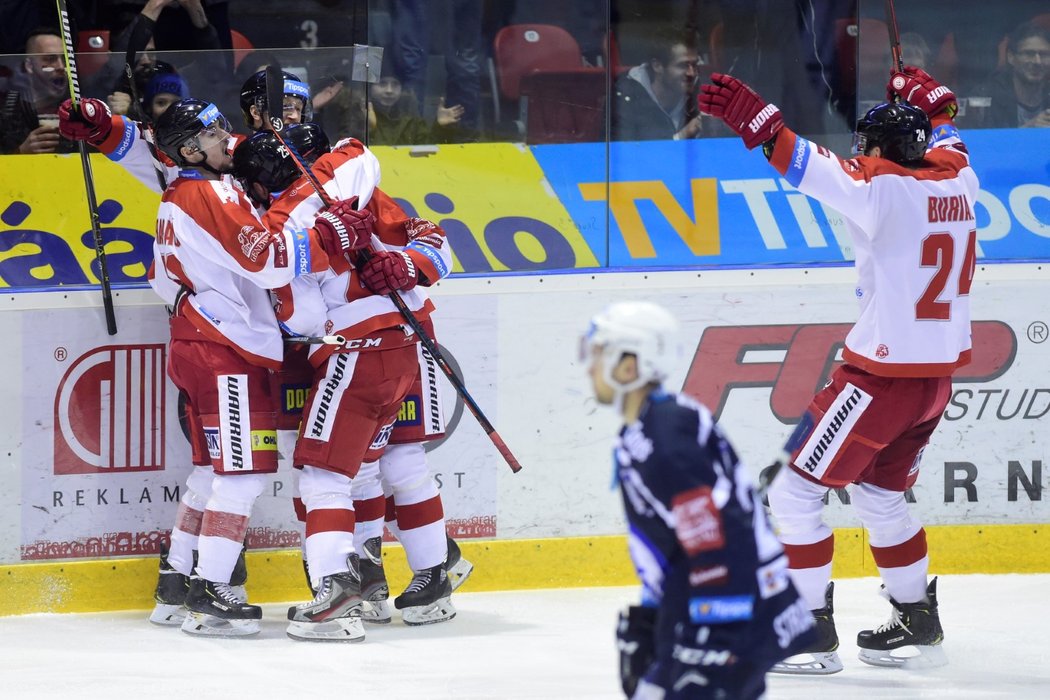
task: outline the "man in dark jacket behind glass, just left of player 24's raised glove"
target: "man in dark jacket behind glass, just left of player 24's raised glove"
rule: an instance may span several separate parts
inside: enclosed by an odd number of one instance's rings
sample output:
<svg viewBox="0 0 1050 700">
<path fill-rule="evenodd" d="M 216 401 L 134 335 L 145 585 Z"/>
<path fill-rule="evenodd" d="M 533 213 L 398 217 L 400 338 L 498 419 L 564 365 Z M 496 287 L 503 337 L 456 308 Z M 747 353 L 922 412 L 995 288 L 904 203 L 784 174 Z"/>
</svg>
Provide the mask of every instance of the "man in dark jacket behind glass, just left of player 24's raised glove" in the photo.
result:
<svg viewBox="0 0 1050 700">
<path fill-rule="evenodd" d="M 695 139 L 700 134 L 695 35 L 665 29 L 656 33 L 652 41 L 649 60 L 616 81 L 612 139 Z"/>
</svg>

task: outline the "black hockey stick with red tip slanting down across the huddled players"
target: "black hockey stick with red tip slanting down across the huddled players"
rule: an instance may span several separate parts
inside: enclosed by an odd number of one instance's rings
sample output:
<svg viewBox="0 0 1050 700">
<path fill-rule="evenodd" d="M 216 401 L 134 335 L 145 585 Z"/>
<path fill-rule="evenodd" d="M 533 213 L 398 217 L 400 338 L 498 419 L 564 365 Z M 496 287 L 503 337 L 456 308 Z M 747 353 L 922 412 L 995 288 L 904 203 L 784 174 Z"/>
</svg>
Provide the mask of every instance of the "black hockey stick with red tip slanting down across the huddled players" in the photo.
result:
<svg viewBox="0 0 1050 700">
<path fill-rule="evenodd" d="M 272 64 L 267 66 L 266 69 L 266 89 L 267 111 L 270 112 L 270 126 L 273 129 L 273 134 L 277 137 L 277 141 L 288 149 L 288 152 L 292 155 L 292 160 L 295 162 L 299 172 L 307 177 L 324 206 L 332 206 L 332 197 L 330 197 L 328 192 L 324 191 L 324 188 L 321 187 L 317 177 L 313 172 L 311 172 L 310 168 L 307 167 L 307 164 L 303 163 L 299 154 L 295 152 L 295 149 L 291 147 L 280 134 L 281 130 L 285 128 L 285 121 L 280 116 L 275 116 L 273 114 L 273 109 L 274 105 L 284 105 L 285 77 L 281 75 L 280 68 Z M 372 252 L 369 250 L 362 250 L 358 252 L 358 255 L 360 261 L 366 262 L 371 257 Z M 441 372 L 443 372 L 445 377 L 448 378 L 448 381 L 452 382 L 456 393 L 463 399 L 463 402 L 466 404 L 467 408 L 469 408 L 470 412 L 474 413 L 474 417 L 478 420 L 478 423 L 488 436 L 488 439 L 492 441 L 494 445 L 496 445 L 496 449 L 498 449 L 500 454 L 503 455 L 503 459 L 506 460 L 507 464 L 510 466 L 510 470 L 513 472 L 520 471 L 522 468 L 521 463 L 519 463 L 517 458 L 514 458 L 510 448 L 507 447 L 507 444 L 503 442 L 503 438 L 501 438 L 500 433 L 496 431 L 496 427 L 491 424 L 488 418 L 485 417 L 485 413 L 481 410 L 481 406 L 478 405 L 478 402 L 475 401 L 474 397 L 470 396 L 470 393 L 466 390 L 466 385 L 463 384 L 463 380 L 457 376 L 456 370 L 452 368 L 452 365 L 448 364 L 448 361 L 438 348 L 438 344 L 426 333 L 422 323 L 419 322 L 419 319 L 412 313 L 412 310 L 408 309 L 407 304 L 404 303 L 404 299 L 401 298 L 401 295 L 397 292 L 391 292 L 386 296 L 397 307 L 398 312 L 404 318 L 408 326 L 419 337 L 419 341 L 422 343 L 426 352 L 430 354 L 430 357 L 433 357 L 438 363 L 438 366 L 441 367 Z"/>
</svg>

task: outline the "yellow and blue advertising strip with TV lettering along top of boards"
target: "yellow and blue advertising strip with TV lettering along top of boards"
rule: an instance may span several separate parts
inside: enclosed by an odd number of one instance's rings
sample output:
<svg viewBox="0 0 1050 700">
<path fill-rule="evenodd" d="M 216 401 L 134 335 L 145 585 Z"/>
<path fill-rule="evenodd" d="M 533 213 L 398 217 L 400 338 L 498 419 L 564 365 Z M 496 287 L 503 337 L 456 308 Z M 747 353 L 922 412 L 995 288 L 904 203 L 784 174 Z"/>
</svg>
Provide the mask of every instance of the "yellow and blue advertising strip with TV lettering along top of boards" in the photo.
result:
<svg viewBox="0 0 1050 700">
<path fill-rule="evenodd" d="M 1050 258 L 1050 132 L 965 132 L 981 178 L 978 258 Z M 822 264 L 854 258 L 842 216 L 737 139 L 376 147 L 384 191 L 448 234 L 456 273 Z M 113 283 L 142 281 L 158 196 L 92 156 Z M 96 283 L 80 164 L 0 157 L 0 285 Z M 607 225 L 608 222 L 608 225 Z"/>
</svg>

